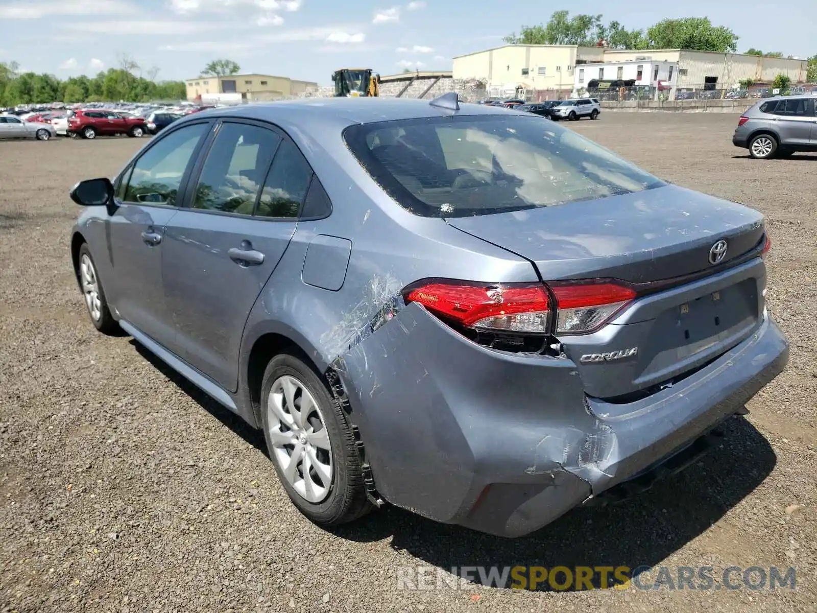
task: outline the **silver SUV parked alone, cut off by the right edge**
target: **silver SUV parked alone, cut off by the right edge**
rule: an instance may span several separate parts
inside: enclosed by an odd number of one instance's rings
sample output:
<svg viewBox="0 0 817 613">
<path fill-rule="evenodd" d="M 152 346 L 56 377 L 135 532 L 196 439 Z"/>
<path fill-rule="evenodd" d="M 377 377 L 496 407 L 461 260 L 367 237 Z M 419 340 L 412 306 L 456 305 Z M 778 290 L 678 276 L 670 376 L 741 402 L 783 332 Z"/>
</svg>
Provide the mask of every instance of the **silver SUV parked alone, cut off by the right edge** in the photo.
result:
<svg viewBox="0 0 817 613">
<path fill-rule="evenodd" d="M 732 143 L 755 159 L 817 150 L 815 96 L 780 96 L 759 101 L 740 116 Z"/>
</svg>

